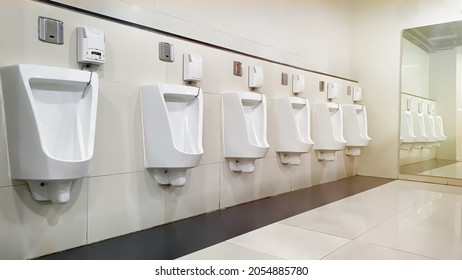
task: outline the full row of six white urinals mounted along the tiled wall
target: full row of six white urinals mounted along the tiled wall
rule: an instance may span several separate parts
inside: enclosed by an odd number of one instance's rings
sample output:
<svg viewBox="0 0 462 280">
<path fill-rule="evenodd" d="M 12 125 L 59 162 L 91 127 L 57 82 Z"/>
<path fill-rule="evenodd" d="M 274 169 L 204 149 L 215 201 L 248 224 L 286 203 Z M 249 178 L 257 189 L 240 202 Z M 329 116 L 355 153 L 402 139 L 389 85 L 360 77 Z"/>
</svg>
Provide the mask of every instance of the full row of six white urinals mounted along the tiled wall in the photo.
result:
<svg viewBox="0 0 462 280">
<path fill-rule="evenodd" d="M 66 203 L 71 185 L 88 176 L 93 156 L 98 74 L 24 64 L 3 67 L 0 74 L 11 179 L 26 181 L 34 200 Z M 160 185 L 183 186 L 186 170 L 198 166 L 204 152 L 202 90 L 146 85 L 140 104 L 146 168 Z M 284 164 L 299 164 L 312 148 L 320 160 L 334 160 L 344 149 L 357 156 L 371 140 L 362 105 L 310 107 L 299 97 L 278 98 L 274 105 L 276 151 Z M 222 110 L 224 157 L 233 171 L 253 172 L 269 148 L 265 95 L 224 92 Z"/>
</svg>

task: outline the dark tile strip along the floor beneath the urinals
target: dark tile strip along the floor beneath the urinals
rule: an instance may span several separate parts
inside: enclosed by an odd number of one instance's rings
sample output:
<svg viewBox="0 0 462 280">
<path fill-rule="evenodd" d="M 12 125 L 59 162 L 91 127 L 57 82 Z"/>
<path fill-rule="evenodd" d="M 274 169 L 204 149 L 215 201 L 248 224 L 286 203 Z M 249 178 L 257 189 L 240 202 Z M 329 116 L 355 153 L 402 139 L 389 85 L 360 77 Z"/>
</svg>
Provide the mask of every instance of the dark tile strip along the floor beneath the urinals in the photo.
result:
<svg viewBox="0 0 462 280">
<path fill-rule="evenodd" d="M 393 179 L 354 176 L 43 256 L 42 260 L 171 260 L 378 187 Z"/>
</svg>

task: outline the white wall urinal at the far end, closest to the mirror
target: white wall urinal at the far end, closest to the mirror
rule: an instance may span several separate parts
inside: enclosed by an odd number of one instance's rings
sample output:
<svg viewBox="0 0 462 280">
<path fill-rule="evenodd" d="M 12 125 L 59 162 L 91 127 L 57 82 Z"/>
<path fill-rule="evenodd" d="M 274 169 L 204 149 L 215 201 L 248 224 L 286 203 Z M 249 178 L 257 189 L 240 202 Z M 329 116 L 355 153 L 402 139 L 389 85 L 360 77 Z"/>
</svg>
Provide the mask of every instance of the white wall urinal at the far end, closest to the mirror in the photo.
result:
<svg viewBox="0 0 462 280">
<path fill-rule="evenodd" d="M 360 104 L 343 104 L 343 137 L 348 142 L 345 153 L 359 156 L 361 147 L 366 147 L 372 140 L 367 134 L 366 107 Z"/>
</svg>

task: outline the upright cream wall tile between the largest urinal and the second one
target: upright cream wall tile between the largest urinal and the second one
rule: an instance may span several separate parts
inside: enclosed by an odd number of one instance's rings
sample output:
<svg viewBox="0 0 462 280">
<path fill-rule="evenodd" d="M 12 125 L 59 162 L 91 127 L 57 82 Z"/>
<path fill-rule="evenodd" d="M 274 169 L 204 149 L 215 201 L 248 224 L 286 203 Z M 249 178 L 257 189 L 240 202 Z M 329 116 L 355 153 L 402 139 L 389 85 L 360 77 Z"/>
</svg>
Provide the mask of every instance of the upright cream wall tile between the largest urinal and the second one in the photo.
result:
<svg viewBox="0 0 462 280">
<path fill-rule="evenodd" d="M 139 86 L 101 79 L 90 176 L 144 170 Z"/>
</svg>

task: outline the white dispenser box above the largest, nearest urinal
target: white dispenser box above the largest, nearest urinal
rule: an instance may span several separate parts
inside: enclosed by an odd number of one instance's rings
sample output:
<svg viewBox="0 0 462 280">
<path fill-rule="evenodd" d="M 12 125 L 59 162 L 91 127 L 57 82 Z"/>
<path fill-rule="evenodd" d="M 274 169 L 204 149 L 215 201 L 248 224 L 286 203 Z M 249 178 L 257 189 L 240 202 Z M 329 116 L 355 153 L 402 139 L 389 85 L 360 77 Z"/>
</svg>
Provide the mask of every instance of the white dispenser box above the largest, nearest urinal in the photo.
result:
<svg viewBox="0 0 462 280">
<path fill-rule="evenodd" d="M 106 62 L 103 31 L 94 28 L 77 27 L 77 62 L 98 65 Z"/>
</svg>

